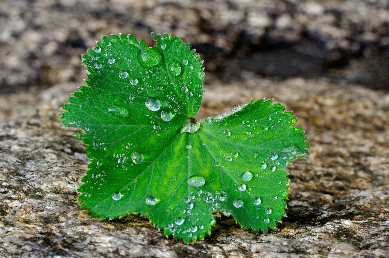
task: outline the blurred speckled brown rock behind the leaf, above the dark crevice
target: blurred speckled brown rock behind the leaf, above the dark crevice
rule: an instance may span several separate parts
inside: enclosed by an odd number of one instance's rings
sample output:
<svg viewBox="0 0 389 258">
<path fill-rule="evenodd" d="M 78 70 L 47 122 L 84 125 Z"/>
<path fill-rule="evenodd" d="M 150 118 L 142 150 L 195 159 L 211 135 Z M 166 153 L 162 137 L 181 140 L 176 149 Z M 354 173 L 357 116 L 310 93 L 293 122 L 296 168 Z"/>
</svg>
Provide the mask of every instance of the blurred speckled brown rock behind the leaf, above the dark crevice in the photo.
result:
<svg viewBox="0 0 389 258">
<path fill-rule="evenodd" d="M 150 31 L 212 59 L 300 42 L 300 52 L 336 61 L 388 49 L 389 0 L 2 0 L 0 89 L 80 81 L 79 56 L 95 40 L 131 33 L 152 44 Z"/>
</svg>

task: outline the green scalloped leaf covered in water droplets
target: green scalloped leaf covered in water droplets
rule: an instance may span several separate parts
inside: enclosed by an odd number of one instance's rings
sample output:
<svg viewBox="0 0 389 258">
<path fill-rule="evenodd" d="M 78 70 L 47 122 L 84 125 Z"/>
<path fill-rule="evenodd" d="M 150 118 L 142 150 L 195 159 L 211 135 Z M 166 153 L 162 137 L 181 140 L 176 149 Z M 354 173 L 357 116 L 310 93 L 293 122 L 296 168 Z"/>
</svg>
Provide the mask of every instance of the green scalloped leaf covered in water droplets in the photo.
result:
<svg viewBox="0 0 389 258">
<path fill-rule="evenodd" d="M 200 58 L 170 35 L 147 47 L 133 36 L 103 37 L 83 56 L 89 87 L 60 115 L 79 127 L 91 159 L 82 208 L 101 219 L 142 213 L 166 235 L 204 239 L 216 211 L 267 231 L 285 216 L 283 167 L 308 156 L 303 130 L 263 99 L 199 122 Z"/>
</svg>

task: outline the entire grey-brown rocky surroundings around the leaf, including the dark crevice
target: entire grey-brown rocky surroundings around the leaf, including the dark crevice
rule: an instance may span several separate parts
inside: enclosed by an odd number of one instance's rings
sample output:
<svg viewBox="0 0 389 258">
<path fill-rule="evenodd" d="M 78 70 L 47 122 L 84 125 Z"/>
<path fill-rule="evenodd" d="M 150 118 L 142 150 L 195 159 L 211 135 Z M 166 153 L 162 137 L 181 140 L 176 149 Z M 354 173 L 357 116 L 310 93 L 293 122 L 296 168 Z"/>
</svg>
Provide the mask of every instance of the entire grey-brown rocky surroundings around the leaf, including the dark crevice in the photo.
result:
<svg viewBox="0 0 389 258">
<path fill-rule="evenodd" d="M 205 60 L 199 116 L 275 98 L 307 131 L 287 218 L 217 218 L 186 245 L 79 208 L 88 159 L 57 116 L 103 35 L 170 33 Z M 0 0 L 0 258 L 389 257 L 389 0 Z"/>
</svg>

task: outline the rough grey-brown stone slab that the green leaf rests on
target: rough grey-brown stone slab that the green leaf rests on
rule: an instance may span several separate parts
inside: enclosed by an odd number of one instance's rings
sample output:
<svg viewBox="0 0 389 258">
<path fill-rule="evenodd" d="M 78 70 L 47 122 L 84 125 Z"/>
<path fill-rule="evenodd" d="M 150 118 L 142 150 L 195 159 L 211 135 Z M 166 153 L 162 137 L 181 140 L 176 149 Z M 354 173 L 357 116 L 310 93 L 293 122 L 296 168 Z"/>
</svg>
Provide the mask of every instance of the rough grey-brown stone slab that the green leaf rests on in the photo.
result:
<svg viewBox="0 0 389 258">
<path fill-rule="evenodd" d="M 61 105 L 78 84 L 0 95 L 0 257 L 388 257 L 389 93 L 326 79 L 207 76 L 200 117 L 263 97 L 287 106 L 307 131 L 311 158 L 288 167 L 287 218 L 268 233 L 217 219 L 186 245 L 128 215 L 99 221 L 79 208 L 86 171 Z"/>
</svg>

